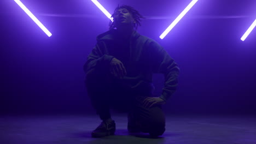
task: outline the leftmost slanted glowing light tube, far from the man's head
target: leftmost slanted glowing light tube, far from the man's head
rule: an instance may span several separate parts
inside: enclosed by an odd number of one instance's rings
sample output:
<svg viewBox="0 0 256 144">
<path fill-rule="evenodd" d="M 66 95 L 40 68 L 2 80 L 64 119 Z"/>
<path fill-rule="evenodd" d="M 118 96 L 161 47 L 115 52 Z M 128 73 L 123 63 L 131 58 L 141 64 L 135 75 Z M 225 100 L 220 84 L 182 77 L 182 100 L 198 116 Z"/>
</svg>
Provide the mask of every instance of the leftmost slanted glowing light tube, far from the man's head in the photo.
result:
<svg viewBox="0 0 256 144">
<path fill-rule="evenodd" d="M 44 25 L 37 19 L 37 17 L 34 16 L 34 15 L 30 12 L 30 10 L 28 10 L 28 9 L 26 8 L 26 6 L 25 6 L 23 3 L 21 3 L 21 1 L 19 1 L 19 0 L 14 0 L 14 1 L 21 7 L 21 9 L 23 9 L 23 10 L 25 11 L 25 13 L 26 13 L 28 16 L 30 16 L 30 18 L 31 18 L 34 22 L 37 23 L 37 25 L 48 35 L 48 37 L 51 37 L 52 34 L 48 31 L 48 29 L 44 27 Z"/>
</svg>

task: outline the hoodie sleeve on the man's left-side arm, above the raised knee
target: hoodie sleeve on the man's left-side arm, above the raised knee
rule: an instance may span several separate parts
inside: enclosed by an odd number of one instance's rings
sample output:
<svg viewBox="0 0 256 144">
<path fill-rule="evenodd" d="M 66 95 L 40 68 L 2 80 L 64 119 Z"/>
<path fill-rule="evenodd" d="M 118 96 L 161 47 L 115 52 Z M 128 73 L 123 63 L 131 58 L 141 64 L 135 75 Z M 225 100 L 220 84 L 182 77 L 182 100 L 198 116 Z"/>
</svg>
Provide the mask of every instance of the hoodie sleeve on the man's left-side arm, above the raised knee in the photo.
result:
<svg viewBox="0 0 256 144">
<path fill-rule="evenodd" d="M 92 49 L 91 53 L 87 57 L 87 61 L 84 64 L 85 74 L 88 73 L 91 69 L 103 70 L 108 69 L 109 63 L 112 61 L 113 56 L 109 56 L 106 52 L 103 51 L 106 49 L 104 47 L 103 41 L 98 42 L 95 47 Z"/>
</svg>

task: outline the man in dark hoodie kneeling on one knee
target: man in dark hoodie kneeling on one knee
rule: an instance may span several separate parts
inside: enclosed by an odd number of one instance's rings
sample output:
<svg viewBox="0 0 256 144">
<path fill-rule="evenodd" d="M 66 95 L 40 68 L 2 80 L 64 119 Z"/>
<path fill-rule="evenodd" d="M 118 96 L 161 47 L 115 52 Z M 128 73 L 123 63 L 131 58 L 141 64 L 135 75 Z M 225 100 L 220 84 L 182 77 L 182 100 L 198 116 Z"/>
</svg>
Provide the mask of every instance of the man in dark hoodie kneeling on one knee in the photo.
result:
<svg viewBox="0 0 256 144">
<path fill-rule="evenodd" d="M 128 5 L 118 6 L 112 15 L 110 30 L 98 35 L 97 44 L 84 65 L 85 85 L 92 106 L 102 123 L 92 137 L 114 135 L 115 122 L 109 109 L 128 112 L 130 133 L 149 133 L 152 137 L 165 131 L 161 105 L 176 91 L 179 68 L 156 41 L 135 29 L 142 17 Z M 153 73 L 165 76 L 160 97 L 153 97 Z"/>
</svg>

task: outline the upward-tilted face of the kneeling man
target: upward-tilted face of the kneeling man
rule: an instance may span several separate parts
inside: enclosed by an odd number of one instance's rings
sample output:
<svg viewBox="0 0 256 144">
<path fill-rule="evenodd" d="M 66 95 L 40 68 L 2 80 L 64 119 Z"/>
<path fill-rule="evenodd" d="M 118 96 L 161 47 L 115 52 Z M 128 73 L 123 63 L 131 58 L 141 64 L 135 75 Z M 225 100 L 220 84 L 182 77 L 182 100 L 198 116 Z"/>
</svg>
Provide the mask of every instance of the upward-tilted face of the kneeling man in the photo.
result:
<svg viewBox="0 0 256 144">
<path fill-rule="evenodd" d="M 114 22 L 117 26 L 124 25 L 124 24 L 131 24 L 135 23 L 132 14 L 124 8 L 118 9 L 114 15 Z"/>
</svg>

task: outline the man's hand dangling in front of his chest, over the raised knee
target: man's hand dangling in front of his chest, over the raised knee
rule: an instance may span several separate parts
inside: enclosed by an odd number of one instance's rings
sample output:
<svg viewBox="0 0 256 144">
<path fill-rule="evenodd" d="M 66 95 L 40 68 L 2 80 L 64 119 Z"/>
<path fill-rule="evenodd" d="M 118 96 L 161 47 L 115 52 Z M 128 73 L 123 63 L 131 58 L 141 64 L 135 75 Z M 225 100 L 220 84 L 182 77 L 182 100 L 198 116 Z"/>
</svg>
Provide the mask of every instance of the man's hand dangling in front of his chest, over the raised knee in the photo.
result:
<svg viewBox="0 0 256 144">
<path fill-rule="evenodd" d="M 113 58 L 110 62 L 110 73 L 119 79 L 122 79 L 126 75 L 126 69 L 124 64 L 117 58 Z"/>
</svg>

